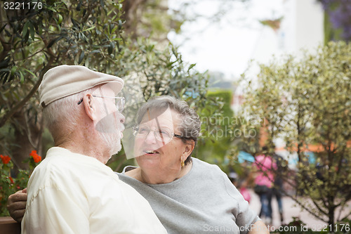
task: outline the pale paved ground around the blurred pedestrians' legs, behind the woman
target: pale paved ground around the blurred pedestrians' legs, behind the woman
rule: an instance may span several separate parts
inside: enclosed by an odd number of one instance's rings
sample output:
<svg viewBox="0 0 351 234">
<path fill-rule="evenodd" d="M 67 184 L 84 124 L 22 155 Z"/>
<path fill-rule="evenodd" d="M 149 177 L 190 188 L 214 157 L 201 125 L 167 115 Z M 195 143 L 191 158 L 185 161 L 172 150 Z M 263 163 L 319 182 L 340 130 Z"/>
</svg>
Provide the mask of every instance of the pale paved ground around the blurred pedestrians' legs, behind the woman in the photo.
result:
<svg viewBox="0 0 351 234">
<path fill-rule="evenodd" d="M 257 213 L 260 212 L 260 200 L 258 195 L 250 190 L 251 193 L 251 201 L 250 207 Z M 280 222 L 280 216 L 278 212 L 278 204 L 275 197 L 272 199 L 272 209 L 273 209 L 273 217 L 272 217 L 272 225 L 274 228 L 279 228 L 282 225 Z M 323 221 L 318 220 L 311 214 L 305 211 L 301 211 L 300 207 L 296 205 L 290 197 L 283 197 L 283 209 L 284 209 L 284 223 L 290 223 L 293 221 L 293 217 L 298 217 L 301 221 L 307 224 L 307 227 L 314 228 L 314 229 L 323 229 L 326 226 L 326 223 Z M 322 228 L 323 227 L 323 228 Z"/>
</svg>

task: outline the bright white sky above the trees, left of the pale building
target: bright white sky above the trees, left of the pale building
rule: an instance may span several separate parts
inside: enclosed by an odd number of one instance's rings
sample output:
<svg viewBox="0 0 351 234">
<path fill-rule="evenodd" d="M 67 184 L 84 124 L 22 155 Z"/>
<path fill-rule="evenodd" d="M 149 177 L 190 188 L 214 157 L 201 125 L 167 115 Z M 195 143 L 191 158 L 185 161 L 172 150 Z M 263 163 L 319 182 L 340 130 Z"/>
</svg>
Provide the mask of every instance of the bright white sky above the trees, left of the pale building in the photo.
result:
<svg viewBox="0 0 351 234">
<path fill-rule="evenodd" d="M 187 0 L 168 0 L 168 6 L 179 9 Z M 223 6 L 223 0 L 196 0 L 187 14 L 213 15 Z M 251 0 L 246 4 L 225 0 L 230 9 L 217 22 L 199 18 L 185 22 L 181 33 L 170 32 L 168 39 L 179 46 L 183 60 L 196 63 L 197 70 L 223 72 L 226 79 L 235 79 L 244 72 L 263 31 L 259 20 L 282 16 L 284 0 Z M 179 9 L 182 11 L 182 9 Z"/>
</svg>

